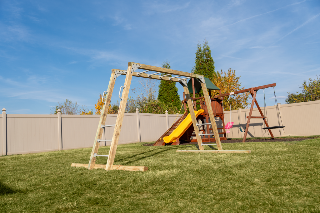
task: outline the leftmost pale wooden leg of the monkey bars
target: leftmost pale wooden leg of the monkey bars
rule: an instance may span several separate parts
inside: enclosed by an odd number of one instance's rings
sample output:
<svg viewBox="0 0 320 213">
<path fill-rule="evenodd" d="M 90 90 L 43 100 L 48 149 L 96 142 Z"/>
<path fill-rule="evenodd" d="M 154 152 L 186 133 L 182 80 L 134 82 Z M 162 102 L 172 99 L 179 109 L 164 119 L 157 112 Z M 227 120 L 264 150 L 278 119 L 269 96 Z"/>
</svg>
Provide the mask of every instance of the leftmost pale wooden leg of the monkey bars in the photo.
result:
<svg viewBox="0 0 320 213">
<path fill-rule="evenodd" d="M 97 133 L 96 133 L 96 136 L 94 138 L 92 152 L 91 152 L 91 156 L 90 156 L 90 161 L 89 161 L 89 164 L 88 164 L 88 169 L 90 169 L 90 170 L 92 170 L 94 168 L 94 164 L 96 163 L 96 157 L 94 157 L 93 154 L 94 153 L 98 153 L 98 150 L 99 150 L 100 143 L 97 142 L 97 140 L 102 138 L 103 129 L 101 128 L 101 125 L 105 125 L 105 123 L 106 123 L 106 119 L 107 119 L 107 115 L 108 115 L 108 109 L 109 109 L 109 105 L 110 105 L 110 102 L 111 102 L 111 96 L 112 96 L 113 88 L 115 86 L 115 82 L 116 82 L 115 71 L 111 71 L 111 77 L 110 77 L 108 90 L 107 90 L 108 93 L 107 93 L 107 97 L 106 97 L 106 100 L 105 100 L 106 103 L 103 105 L 103 108 L 102 108 L 102 112 L 101 112 L 101 116 L 100 116 L 100 121 L 99 121 L 98 129 L 97 129 Z"/>
</svg>

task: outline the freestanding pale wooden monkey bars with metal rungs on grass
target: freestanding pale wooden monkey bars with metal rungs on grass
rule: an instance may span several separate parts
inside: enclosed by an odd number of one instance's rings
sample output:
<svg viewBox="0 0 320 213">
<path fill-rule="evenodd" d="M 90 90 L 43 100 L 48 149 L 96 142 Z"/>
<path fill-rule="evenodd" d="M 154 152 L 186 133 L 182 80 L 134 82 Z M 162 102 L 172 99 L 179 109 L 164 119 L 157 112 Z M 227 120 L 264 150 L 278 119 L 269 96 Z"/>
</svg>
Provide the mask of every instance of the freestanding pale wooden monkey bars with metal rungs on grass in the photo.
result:
<svg viewBox="0 0 320 213">
<path fill-rule="evenodd" d="M 149 71 L 154 71 L 156 73 L 146 73 Z M 157 75 L 160 73 L 165 73 L 165 75 Z M 125 75 L 125 81 L 124 81 L 124 86 L 120 87 L 119 91 L 119 98 L 121 99 L 120 105 L 119 105 L 119 110 L 118 110 L 118 115 L 116 119 L 116 124 L 115 124 L 115 130 L 113 132 L 112 140 L 111 140 L 111 146 L 109 150 L 109 155 L 108 155 L 108 160 L 107 164 L 95 164 L 96 162 L 96 157 L 97 156 L 103 156 L 103 155 L 98 155 L 98 150 L 100 146 L 100 140 L 102 138 L 102 133 L 103 133 L 103 128 L 107 128 L 105 125 L 105 121 L 107 118 L 108 114 L 108 109 L 109 105 L 111 102 L 111 96 L 113 93 L 113 89 L 115 86 L 115 81 L 116 78 L 119 77 L 120 75 Z M 169 77 L 169 75 L 176 75 L 174 77 Z M 173 81 L 173 82 L 179 82 L 183 86 L 183 90 L 186 96 L 186 102 L 188 104 L 188 109 L 190 111 L 191 119 L 192 119 L 192 124 L 196 133 L 196 140 L 199 146 L 199 150 L 192 150 L 192 152 L 214 152 L 214 153 L 250 153 L 250 150 L 223 150 L 221 146 L 221 141 L 219 138 L 219 133 L 218 129 L 216 126 L 216 122 L 214 120 L 214 114 L 212 111 L 211 107 L 208 107 L 208 114 L 209 118 L 211 120 L 212 124 L 212 131 L 215 137 L 215 141 L 217 144 L 218 150 L 204 150 L 204 147 L 202 145 L 202 139 L 200 136 L 200 130 L 198 128 L 196 116 L 193 110 L 193 103 L 192 99 L 190 97 L 188 85 L 187 85 L 187 79 L 193 78 L 196 79 L 200 82 L 202 90 L 204 91 L 204 100 L 206 103 L 211 103 L 210 96 L 207 91 L 207 87 L 205 84 L 204 76 L 203 75 L 198 75 L 195 73 L 189 73 L 189 72 L 181 72 L 177 70 L 172 70 L 172 69 L 166 69 L 162 67 L 156 67 L 156 66 L 150 66 L 150 65 L 144 65 L 144 64 L 139 64 L 139 63 L 133 63 L 129 62 L 128 63 L 128 69 L 127 70 L 118 70 L 118 69 L 112 69 L 111 71 L 111 77 L 108 85 L 108 90 L 105 91 L 103 94 L 107 93 L 106 99 L 105 99 L 105 104 L 103 105 L 101 116 L 100 116 L 100 121 L 99 125 L 97 128 L 97 133 L 93 141 L 93 147 L 92 147 L 92 152 L 90 156 L 90 161 L 89 164 L 71 164 L 71 166 L 75 167 L 87 167 L 89 170 L 96 169 L 96 168 L 105 168 L 107 171 L 109 170 L 127 170 L 127 171 L 147 171 L 148 167 L 146 166 L 122 166 L 122 165 L 114 165 L 114 160 L 115 160 L 115 155 L 116 155 L 116 149 L 119 141 L 119 136 L 121 132 L 121 127 L 122 127 L 122 122 L 124 118 L 124 111 L 125 111 L 125 106 L 127 103 L 129 91 L 130 91 L 130 85 L 131 85 L 131 80 L 132 76 L 135 77 L 141 77 L 141 78 L 149 78 L 149 79 L 156 79 L 156 80 L 167 80 L 167 81 Z M 121 88 L 123 88 L 123 93 L 121 94 Z M 191 152 L 191 150 L 177 150 L 177 152 Z"/>
</svg>

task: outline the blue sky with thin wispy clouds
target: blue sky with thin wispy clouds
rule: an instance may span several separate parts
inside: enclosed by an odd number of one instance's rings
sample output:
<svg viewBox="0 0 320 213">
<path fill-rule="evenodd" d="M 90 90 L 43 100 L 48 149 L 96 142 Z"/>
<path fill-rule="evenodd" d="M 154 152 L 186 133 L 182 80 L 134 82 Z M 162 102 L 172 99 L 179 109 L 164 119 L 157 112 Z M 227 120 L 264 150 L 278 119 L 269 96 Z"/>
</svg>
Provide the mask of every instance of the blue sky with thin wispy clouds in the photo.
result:
<svg viewBox="0 0 320 213">
<path fill-rule="evenodd" d="M 284 104 L 287 92 L 320 74 L 319 33 L 319 0 L 2 0 L 0 107 L 9 114 L 50 114 L 69 99 L 94 109 L 111 69 L 168 60 L 172 69 L 190 72 L 204 39 L 216 70 L 236 70 L 246 88 L 276 83 Z M 112 102 L 123 84 L 121 76 Z M 262 91 L 257 99 L 263 106 Z M 266 101 L 274 104 L 272 88 Z"/>
</svg>

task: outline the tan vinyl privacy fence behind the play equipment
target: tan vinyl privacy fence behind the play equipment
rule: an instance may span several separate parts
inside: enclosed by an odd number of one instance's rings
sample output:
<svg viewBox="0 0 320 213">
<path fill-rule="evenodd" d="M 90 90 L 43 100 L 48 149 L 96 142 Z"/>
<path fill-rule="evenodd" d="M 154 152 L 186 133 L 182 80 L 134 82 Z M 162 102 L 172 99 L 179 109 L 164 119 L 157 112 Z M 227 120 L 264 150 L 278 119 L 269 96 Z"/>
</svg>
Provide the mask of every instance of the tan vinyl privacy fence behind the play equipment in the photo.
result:
<svg viewBox="0 0 320 213">
<path fill-rule="evenodd" d="M 320 101 L 280 105 L 282 129 L 273 129 L 278 136 L 320 135 Z M 268 106 L 269 126 L 278 126 L 276 106 Z M 116 123 L 116 114 L 108 115 L 105 125 Z M 181 115 L 178 116 L 180 118 Z M 239 118 L 238 118 L 239 116 Z M 227 138 L 241 138 L 239 126 L 243 129 L 249 116 L 249 109 L 225 112 L 225 123 L 233 121 L 233 128 Z M 252 116 L 260 116 L 257 108 Z M 231 119 L 230 119 L 231 117 Z M 177 115 L 126 113 L 120 133 L 119 144 L 156 141 L 172 125 Z M 6 114 L 3 109 L 0 115 L 0 154 L 13 155 L 33 152 L 46 152 L 92 147 L 100 115 L 15 115 Z M 240 120 L 240 125 L 239 125 Z M 220 120 L 217 125 L 222 126 Z M 280 123 L 281 125 L 281 123 Z M 251 119 L 247 137 L 270 137 L 263 130 L 262 119 Z M 114 127 L 105 127 L 102 139 L 112 139 Z M 111 142 L 101 142 L 100 146 Z"/>
</svg>

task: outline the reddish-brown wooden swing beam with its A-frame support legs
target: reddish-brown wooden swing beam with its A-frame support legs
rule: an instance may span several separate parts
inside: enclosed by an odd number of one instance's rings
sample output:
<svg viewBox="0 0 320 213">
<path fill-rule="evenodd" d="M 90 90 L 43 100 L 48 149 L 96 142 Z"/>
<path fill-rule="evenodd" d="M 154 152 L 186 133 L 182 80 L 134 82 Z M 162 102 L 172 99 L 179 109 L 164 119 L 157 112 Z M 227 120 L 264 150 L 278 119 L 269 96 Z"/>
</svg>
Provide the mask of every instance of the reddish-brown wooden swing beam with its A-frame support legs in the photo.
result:
<svg viewBox="0 0 320 213">
<path fill-rule="evenodd" d="M 265 117 L 262 113 L 262 110 L 260 109 L 260 106 L 256 100 L 256 95 L 257 95 L 257 91 L 259 89 L 264 89 L 264 88 L 268 88 L 268 87 L 275 87 L 276 86 L 276 83 L 273 83 L 273 84 L 267 84 L 267 85 L 263 85 L 263 86 L 260 86 L 260 87 L 251 87 L 249 89 L 242 89 L 242 90 L 238 90 L 238 91 L 235 91 L 235 92 L 230 92 L 230 93 L 225 93 L 225 94 L 221 94 L 221 95 L 215 95 L 213 96 L 213 98 L 220 98 L 220 97 L 225 97 L 225 96 L 229 96 L 229 95 L 236 95 L 236 94 L 240 94 L 240 93 L 245 93 L 245 92 L 250 92 L 251 96 L 252 96 L 252 103 L 251 103 L 251 107 L 250 107 L 250 112 L 249 112 L 249 116 L 247 116 L 248 118 L 248 122 L 245 126 L 245 131 L 244 131 L 244 136 L 243 136 L 243 140 L 242 142 L 245 142 L 245 140 L 247 139 L 247 134 L 248 134 L 248 129 L 249 129 L 249 124 L 250 124 L 250 120 L 251 118 L 262 118 L 265 125 L 267 127 L 269 127 L 268 125 L 268 122 L 266 120 L 267 117 Z M 259 112 L 260 112 L 260 116 L 251 116 L 252 115 L 252 110 L 253 110 L 253 106 L 254 104 L 256 104 Z M 240 125 L 240 124 L 239 124 Z M 270 135 L 271 135 L 271 138 L 274 138 L 272 132 L 271 132 L 271 129 L 268 129 Z"/>
</svg>

